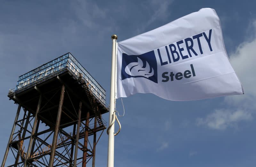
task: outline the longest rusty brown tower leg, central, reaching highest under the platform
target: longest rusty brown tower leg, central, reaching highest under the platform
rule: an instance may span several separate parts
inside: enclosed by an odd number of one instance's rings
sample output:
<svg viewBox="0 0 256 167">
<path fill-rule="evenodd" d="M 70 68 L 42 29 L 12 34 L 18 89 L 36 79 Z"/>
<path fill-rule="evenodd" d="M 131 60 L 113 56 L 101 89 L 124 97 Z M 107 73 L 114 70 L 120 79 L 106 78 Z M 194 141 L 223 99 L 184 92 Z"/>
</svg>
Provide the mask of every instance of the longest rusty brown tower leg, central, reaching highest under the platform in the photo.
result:
<svg viewBox="0 0 256 167">
<path fill-rule="evenodd" d="M 60 117 L 61 117 L 62 105 L 63 105 L 63 100 L 64 100 L 64 93 L 65 93 L 65 86 L 62 85 L 58 115 L 57 115 L 57 119 L 56 119 L 55 131 L 54 131 L 53 140 L 52 140 L 52 151 L 51 151 L 51 156 L 50 156 L 50 161 L 49 161 L 49 167 L 52 167 L 53 163 L 54 163 L 54 155 L 55 155 L 55 151 L 56 151 L 56 147 L 57 147 L 57 138 L 58 138 L 58 133 L 59 133 Z"/>
</svg>

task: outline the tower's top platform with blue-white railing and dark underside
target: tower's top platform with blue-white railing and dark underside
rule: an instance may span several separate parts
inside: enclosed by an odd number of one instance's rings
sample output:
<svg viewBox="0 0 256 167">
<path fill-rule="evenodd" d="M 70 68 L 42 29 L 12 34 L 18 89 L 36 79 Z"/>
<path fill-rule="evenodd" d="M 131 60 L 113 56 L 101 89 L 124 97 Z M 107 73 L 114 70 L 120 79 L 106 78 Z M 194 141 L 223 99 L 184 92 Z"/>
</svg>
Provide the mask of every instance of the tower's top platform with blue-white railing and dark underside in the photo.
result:
<svg viewBox="0 0 256 167">
<path fill-rule="evenodd" d="M 100 84 L 80 65 L 80 63 L 67 53 L 52 60 L 39 68 L 21 75 L 17 86 L 10 90 L 8 97 L 16 103 L 22 104 L 32 114 L 36 113 L 36 107 L 40 92 L 43 95 L 40 116 L 47 126 L 54 126 L 60 101 L 61 86 L 65 84 L 67 95 L 64 97 L 63 113 L 60 122 L 70 123 L 75 119 L 79 102 L 82 101 L 81 120 L 86 118 L 85 112 L 90 111 L 90 117 L 95 117 L 92 105 L 87 96 L 87 87 L 92 92 L 92 98 L 99 106 L 100 114 L 108 112 L 105 104 L 106 91 Z M 59 93 L 58 93 L 59 92 Z M 72 99 L 72 100 L 70 100 Z M 67 124 L 68 126 L 68 124 Z"/>
</svg>

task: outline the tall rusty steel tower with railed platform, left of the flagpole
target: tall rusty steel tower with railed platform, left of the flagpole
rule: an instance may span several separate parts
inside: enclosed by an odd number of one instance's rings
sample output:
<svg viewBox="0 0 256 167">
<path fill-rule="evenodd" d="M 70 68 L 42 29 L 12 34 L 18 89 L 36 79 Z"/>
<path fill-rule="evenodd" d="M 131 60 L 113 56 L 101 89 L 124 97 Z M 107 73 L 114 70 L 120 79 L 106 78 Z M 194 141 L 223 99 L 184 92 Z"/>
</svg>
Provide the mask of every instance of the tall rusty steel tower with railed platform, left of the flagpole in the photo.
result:
<svg viewBox="0 0 256 167">
<path fill-rule="evenodd" d="M 20 76 L 8 97 L 18 109 L 2 167 L 95 166 L 106 91 L 71 53 Z"/>
</svg>

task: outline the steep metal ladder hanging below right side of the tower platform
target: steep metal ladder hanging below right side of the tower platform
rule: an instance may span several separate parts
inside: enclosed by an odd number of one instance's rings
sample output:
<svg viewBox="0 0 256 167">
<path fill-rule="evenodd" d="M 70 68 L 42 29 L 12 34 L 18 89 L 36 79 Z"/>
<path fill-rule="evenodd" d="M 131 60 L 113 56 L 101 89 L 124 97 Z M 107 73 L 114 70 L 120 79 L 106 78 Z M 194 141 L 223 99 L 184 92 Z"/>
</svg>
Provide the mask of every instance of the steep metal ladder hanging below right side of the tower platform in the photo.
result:
<svg viewBox="0 0 256 167">
<path fill-rule="evenodd" d="M 100 114 L 99 107 L 98 107 L 98 105 L 97 105 L 97 103 L 95 101 L 95 98 L 92 95 L 92 91 L 89 88 L 89 83 L 84 84 L 84 86 L 85 86 L 84 87 L 85 88 L 85 92 L 86 92 L 87 97 L 89 99 L 89 102 L 90 102 L 90 104 L 92 106 L 92 111 L 95 114 L 97 122 L 99 123 L 100 126 L 104 126 L 103 122 L 102 122 L 102 119 L 101 119 L 101 114 Z"/>
</svg>

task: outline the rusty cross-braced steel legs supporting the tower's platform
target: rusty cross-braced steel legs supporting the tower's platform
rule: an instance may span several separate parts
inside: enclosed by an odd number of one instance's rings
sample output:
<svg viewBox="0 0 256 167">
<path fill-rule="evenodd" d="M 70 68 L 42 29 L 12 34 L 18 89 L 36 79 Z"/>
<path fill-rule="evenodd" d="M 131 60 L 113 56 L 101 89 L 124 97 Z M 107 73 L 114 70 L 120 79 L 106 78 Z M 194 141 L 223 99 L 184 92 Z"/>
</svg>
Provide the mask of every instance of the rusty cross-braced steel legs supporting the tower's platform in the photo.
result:
<svg viewBox="0 0 256 167">
<path fill-rule="evenodd" d="M 34 106 L 16 97 L 19 106 L 2 167 L 5 164 L 17 167 L 92 164 L 94 167 L 95 147 L 106 128 L 101 116 L 96 117 L 86 107 L 90 106 L 89 102 L 77 101 L 65 84 L 51 92 L 35 89 Z M 96 133 L 100 131 L 97 139 Z"/>
</svg>

